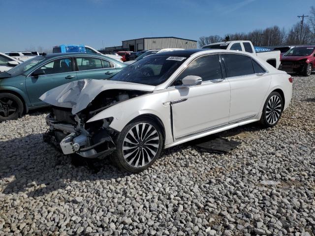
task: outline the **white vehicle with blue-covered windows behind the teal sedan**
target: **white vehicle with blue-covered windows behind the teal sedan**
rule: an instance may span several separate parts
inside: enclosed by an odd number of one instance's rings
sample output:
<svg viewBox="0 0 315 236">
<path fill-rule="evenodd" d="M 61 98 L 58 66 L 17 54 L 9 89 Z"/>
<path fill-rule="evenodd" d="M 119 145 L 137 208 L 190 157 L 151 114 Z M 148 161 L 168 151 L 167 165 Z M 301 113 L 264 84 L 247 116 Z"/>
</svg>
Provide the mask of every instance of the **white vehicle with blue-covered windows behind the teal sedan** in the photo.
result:
<svg viewBox="0 0 315 236">
<path fill-rule="evenodd" d="M 53 53 L 95 53 L 123 62 L 121 56 L 113 54 L 102 54 L 98 52 L 95 48 L 83 44 L 62 44 L 59 46 L 55 46 L 53 47 Z"/>
</svg>

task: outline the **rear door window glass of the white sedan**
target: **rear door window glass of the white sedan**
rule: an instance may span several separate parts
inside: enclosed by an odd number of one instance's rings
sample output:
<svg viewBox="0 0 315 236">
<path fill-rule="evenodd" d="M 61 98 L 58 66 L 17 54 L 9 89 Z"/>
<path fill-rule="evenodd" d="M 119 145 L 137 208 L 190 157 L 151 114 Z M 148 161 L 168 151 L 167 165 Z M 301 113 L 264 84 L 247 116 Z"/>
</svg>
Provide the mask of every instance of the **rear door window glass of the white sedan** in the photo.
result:
<svg viewBox="0 0 315 236">
<path fill-rule="evenodd" d="M 227 77 L 254 74 L 252 59 L 237 54 L 222 54 Z"/>
</svg>

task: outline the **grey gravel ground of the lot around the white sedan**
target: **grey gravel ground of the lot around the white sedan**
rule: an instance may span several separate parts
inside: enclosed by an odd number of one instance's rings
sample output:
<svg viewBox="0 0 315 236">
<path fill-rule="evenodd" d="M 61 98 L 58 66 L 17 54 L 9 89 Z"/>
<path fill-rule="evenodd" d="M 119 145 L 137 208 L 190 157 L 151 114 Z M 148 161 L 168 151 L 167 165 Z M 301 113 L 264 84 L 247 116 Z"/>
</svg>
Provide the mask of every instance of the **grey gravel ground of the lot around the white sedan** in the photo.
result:
<svg viewBox="0 0 315 236">
<path fill-rule="evenodd" d="M 0 123 L 0 236 L 314 235 L 315 75 L 293 87 L 276 127 L 221 133 L 242 142 L 228 154 L 165 150 L 140 174 L 71 165 L 42 141 L 47 110 Z"/>
</svg>

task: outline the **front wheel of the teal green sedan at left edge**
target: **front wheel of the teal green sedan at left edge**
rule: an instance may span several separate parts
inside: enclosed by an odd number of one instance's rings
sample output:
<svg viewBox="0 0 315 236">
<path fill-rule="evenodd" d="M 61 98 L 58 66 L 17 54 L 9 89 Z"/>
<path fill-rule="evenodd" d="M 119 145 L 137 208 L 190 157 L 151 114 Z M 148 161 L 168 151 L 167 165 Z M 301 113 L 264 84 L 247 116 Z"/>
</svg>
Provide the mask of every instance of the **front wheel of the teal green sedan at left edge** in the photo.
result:
<svg viewBox="0 0 315 236">
<path fill-rule="evenodd" d="M 0 121 L 17 119 L 23 114 L 23 102 L 21 99 L 12 94 L 0 93 Z"/>
</svg>

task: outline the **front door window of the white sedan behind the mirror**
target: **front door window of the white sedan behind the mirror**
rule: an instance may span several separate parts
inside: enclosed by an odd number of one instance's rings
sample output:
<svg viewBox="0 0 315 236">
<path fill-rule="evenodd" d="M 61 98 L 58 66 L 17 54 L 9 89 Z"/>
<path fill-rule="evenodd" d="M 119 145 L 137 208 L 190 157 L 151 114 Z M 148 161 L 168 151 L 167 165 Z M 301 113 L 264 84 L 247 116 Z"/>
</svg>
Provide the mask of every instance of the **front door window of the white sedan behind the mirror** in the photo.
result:
<svg viewBox="0 0 315 236">
<path fill-rule="evenodd" d="M 182 79 L 188 75 L 199 76 L 202 82 L 222 79 L 219 55 L 203 56 L 191 61 L 173 85 L 182 85 Z"/>
</svg>

